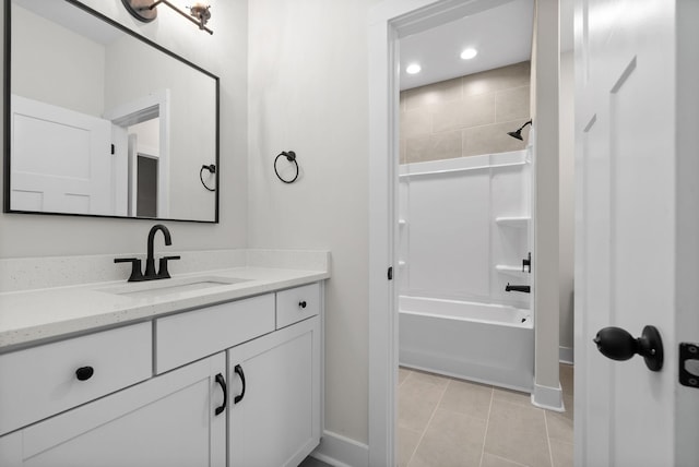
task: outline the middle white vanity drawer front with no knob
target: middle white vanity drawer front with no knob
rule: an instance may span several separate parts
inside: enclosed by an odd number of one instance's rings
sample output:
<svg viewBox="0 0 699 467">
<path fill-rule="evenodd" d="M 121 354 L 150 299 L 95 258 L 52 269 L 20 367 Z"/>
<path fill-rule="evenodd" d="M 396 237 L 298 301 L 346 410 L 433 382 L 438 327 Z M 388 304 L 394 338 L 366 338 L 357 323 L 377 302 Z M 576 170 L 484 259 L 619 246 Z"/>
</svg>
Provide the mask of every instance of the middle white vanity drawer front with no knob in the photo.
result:
<svg viewBox="0 0 699 467">
<path fill-rule="evenodd" d="M 162 373 L 274 331 L 274 295 L 155 321 L 155 371 Z"/>
</svg>

